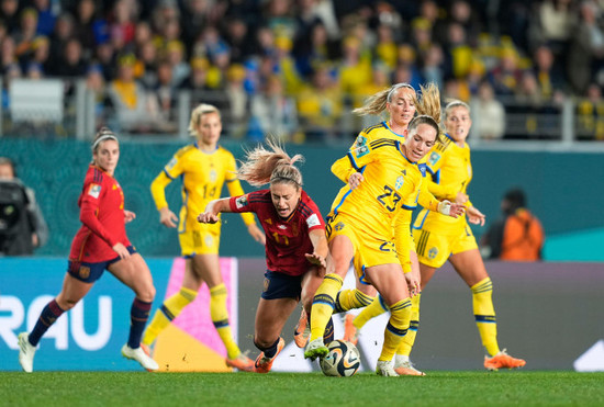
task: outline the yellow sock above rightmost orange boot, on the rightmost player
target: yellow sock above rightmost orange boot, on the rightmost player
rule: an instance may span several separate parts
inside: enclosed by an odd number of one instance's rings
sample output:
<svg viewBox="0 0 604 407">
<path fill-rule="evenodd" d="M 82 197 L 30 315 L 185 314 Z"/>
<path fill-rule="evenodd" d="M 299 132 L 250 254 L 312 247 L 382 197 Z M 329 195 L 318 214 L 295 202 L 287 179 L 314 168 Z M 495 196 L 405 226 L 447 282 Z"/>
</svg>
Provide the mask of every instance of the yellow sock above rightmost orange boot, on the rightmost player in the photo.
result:
<svg viewBox="0 0 604 407">
<path fill-rule="evenodd" d="M 499 353 L 500 347 L 497 344 L 497 320 L 492 299 L 493 283 L 490 278 L 486 278 L 472 285 L 471 289 L 474 318 L 482 344 L 490 355 L 494 355 Z"/>
</svg>

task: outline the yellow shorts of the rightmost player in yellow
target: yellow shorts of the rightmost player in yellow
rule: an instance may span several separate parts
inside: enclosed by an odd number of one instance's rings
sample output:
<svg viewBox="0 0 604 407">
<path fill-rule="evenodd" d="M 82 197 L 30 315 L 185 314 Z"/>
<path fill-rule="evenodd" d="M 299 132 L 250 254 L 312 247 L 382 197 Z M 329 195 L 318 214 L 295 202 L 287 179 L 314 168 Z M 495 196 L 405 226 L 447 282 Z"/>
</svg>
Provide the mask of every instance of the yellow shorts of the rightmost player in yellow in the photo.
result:
<svg viewBox="0 0 604 407">
<path fill-rule="evenodd" d="M 450 255 L 478 249 L 477 240 L 469 226 L 458 235 L 439 235 L 436 231 L 413 229 L 413 239 L 421 263 L 440 268 Z"/>
</svg>

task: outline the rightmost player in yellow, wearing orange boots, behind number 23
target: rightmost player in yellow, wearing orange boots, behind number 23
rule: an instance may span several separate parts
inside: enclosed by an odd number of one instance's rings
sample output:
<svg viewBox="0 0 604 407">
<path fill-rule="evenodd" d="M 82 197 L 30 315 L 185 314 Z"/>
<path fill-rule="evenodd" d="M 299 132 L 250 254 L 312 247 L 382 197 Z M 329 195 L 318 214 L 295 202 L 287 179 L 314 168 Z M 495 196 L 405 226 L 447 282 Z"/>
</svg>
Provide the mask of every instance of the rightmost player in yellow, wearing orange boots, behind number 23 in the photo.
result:
<svg viewBox="0 0 604 407">
<path fill-rule="evenodd" d="M 489 355 L 484 368 L 522 368 L 526 362 L 508 355 L 497 344 L 495 310 L 492 302 L 493 284 L 478 250 L 468 221 L 484 225 L 484 215 L 468 197 L 468 184 L 472 180 L 470 147 L 466 143 L 470 126 L 470 108 L 460 101 L 447 104 L 444 114 L 447 136 L 437 143 L 427 161 L 434 182 L 428 189 L 438 197 L 466 205 L 466 216 L 457 219 L 423 210 L 413 225 L 417 247 L 422 287 L 433 278 L 436 269 L 447 260 L 472 291 L 472 305 L 482 344 Z M 412 343 L 413 344 L 413 343 Z M 411 349 L 410 349 L 411 350 Z M 409 353 L 407 353 L 409 354 Z"/>
</svg>

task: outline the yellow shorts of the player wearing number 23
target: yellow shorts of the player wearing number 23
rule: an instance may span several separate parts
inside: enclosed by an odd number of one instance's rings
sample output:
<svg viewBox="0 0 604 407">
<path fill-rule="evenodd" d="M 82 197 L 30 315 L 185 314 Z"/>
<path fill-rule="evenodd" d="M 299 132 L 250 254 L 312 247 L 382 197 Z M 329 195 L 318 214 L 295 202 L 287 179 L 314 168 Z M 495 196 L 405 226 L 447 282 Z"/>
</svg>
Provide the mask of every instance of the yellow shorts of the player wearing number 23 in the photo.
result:
<svg viewBox="0 0 604 407">
<path fill-rule="evenodd" d="M 335 217 L 327 217 L 327 241 L 336 236 L 346 236 L 355 248 L 354 267 L 361 283 L 368 284 L 365 279 L 365 269 L 380 264 L 399 263 L 396 249 L 392 240 L 381 239 L 363 230 L 363 227 L 355 225 L 358 221 L 339 213 Z"/>
</svg>

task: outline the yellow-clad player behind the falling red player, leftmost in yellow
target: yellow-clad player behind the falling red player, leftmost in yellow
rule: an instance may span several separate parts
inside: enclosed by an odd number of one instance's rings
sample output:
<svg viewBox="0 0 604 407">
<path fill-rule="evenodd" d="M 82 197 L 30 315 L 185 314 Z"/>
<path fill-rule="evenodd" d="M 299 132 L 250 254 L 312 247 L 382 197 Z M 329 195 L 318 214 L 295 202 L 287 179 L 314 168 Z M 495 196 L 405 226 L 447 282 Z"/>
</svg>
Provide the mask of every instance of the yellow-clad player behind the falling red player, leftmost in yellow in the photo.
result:
<svg viewBox="0 0 604 407">
<path fill-rule="evenodd" d="M 226 309 L 226 287 L 219 263 L 220 223 L 200 224 L 195 217 L 205 205 L 221 195 L 224 182 L 232 196 L 244 191 L 236 176 L 233 155 L 219 146 L 222 132 L 220 111 L 210 104 L 200 104 L 191 113 L 189 132 L 195 143 L 182 147 L 152 183 L 152 194 L 159 211 L 159 222 L 176 227 L 182 256 L 186 259 L 184 278 L 180 291 L 166 299 L 145 331 L 143 346 L 148 349 L 164 330 L 197 296 L 202 283 L 210 290 L 210 315 L 227 352 L 226 364 L 244 371 L 254 370 L 254 361 L 242 353 L 231 333 Z M 177 217 L 168 207 L 165 189 L 176 178 L 182 178 L 182 207 Z M 251 237 L 265 244 L 264 233 L 256 226 L 254 215 L 242 214 Z"/>
</svg>

